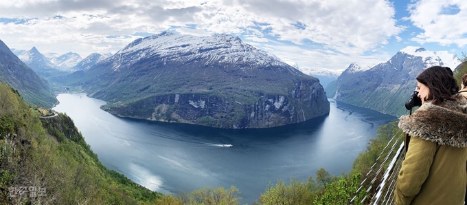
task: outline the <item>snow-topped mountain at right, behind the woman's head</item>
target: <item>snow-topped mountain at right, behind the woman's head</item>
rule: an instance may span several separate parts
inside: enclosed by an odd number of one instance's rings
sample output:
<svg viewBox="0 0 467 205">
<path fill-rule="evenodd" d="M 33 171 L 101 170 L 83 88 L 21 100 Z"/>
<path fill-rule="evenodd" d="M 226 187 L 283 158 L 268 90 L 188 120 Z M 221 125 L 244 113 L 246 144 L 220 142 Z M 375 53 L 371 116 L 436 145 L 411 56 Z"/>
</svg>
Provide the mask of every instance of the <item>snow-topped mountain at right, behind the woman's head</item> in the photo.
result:
<svg viewBox="0 0 467 205">
<path fill-rule="evenodd" d="M 420 72 L 433 65 L 455 69 L 461 63 L 449 52 L 431 52 L 423 47 L 409 46 L 374 67 L 362 68 L 352 63 L 326 87 L 326 94 L 351 105 L 401 116 L 407 113 L 405 101 L 415 89 L 415 78 Z"/>
</svg>

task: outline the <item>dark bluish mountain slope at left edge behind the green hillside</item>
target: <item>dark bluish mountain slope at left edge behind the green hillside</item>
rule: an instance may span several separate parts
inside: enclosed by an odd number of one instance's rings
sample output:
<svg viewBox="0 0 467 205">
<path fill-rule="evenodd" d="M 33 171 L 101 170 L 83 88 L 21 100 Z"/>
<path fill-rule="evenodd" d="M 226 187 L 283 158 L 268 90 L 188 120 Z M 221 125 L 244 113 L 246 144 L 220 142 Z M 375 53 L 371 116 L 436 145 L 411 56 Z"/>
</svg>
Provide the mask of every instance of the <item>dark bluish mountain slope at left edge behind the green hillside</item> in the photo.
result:
<svg viewBox="0 0 467 205">
<path fill-rule="evenodd" d="M 50 108 L 57 99 L 46 80 L 23 63 L 0 41 L 0 82 L 16 89 L 26 102 Z"/>
</svg>

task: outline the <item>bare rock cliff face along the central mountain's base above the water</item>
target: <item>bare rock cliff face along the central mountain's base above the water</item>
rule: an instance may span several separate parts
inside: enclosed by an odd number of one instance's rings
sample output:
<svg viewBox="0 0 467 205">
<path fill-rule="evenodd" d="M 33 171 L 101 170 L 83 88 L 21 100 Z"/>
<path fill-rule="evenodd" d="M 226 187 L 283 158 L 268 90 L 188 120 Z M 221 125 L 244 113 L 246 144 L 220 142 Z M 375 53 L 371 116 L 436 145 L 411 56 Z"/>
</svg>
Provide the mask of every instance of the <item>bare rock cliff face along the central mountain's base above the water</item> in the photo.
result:
<svg viewBox="0 0 467 205">
<path fill-rule="evenodd" d="M 118 116 L 147 120 L 231 129 L 264 128 L 328 114 L 329 102 L 325 95 L 317 81 L 308 81 L 297 85 L 288 95 L 258 94 L 253 104 L 243 104 L 232 96 L 166 94 L 104 109 Z"/>
</svg>

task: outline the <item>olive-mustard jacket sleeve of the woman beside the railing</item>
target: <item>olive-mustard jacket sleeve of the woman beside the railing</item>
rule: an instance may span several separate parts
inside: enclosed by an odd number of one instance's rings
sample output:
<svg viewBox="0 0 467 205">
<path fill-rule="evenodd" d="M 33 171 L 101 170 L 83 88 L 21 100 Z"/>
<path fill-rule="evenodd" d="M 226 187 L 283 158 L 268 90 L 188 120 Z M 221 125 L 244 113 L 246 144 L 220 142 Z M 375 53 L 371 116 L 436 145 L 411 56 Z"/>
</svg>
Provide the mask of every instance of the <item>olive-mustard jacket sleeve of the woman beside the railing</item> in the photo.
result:
<svg viewBox="0 0 467 205">
<path fill-rule="evenodd" d="M 412 199 L 420 192 L 430 172 L 431 163 L 435 156 L 437 144 L 413 136 L 409 143 L 409 150 L 402 162 L 396 191 L 395 202 L 398 205 L 410 204 Z"/>
</svg>

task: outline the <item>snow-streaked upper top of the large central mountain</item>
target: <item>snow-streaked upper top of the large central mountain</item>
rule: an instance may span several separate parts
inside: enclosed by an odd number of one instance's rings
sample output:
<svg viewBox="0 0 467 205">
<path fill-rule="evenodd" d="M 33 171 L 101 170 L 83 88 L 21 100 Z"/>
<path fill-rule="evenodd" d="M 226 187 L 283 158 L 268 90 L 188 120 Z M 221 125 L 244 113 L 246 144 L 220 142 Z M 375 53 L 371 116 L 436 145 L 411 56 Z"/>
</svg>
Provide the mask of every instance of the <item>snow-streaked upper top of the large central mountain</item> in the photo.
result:
<svg viewBox="0 0 467 205">
<path fill-rule="evenodd" d="M 128 57 L 122 58 L 122 56 Z M 244 65 L 242 69 L 266 65 L 291 68 L 279 58 L 269 56 L 262 50 L 242 43 L 238 37 L 227 34 L 200 37 L 162 32 L 133 41 L 109 58 L 109 61 L 114 62 L 113 69 L 117 70 L 123 64 L 128 65 L 128 63 L 137 62 L 149 56 L 158 56 L 165 61 L 180 62 L 203 59 L 205 65 L 238 63 Z"/>
</svg>

